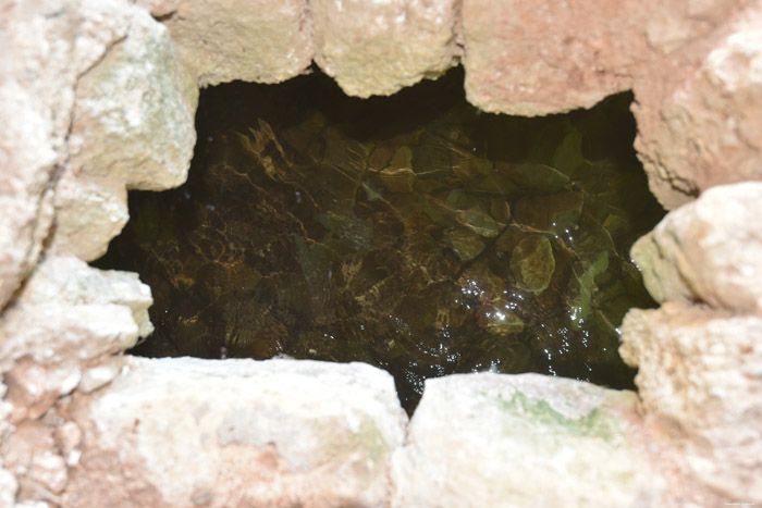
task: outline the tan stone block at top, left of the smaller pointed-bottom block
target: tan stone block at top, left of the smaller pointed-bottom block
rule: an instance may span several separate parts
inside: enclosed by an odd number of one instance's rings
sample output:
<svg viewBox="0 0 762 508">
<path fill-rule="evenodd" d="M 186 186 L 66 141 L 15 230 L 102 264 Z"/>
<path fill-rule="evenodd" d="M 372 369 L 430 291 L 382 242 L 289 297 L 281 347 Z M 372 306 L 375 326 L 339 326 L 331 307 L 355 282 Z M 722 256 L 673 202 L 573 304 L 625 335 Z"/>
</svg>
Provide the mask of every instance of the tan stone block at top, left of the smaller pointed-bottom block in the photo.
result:
<svg viewBox="0 0 762 508">
<path fill-rule="evenodd" d="M 164 23 L 201 87 L 234 79 L 280 83 L 312 60 L 305 0 L 181 0 Z"/>
</svg>

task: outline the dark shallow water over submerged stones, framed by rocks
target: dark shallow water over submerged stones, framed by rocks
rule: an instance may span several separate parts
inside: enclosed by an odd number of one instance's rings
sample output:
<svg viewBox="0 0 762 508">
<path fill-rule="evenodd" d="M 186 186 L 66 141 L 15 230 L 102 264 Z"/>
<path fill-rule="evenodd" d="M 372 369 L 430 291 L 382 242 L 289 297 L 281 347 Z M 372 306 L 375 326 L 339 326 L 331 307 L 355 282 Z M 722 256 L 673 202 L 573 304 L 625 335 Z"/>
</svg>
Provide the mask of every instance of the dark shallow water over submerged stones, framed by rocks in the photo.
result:
<svg viewBox="0 0 762 508">
<path fill-rule="evenodd" d="M 201 94 L 188 182 L 131 193 L 100 268 L 152 290 L 149 357 L 365 361 L 426 377 L 541 372 L 632 387 L 628 261 L 663 210 L 631 96 L 542 119 L 468 106 L 451 72 L 392 98 L 322 75 Z"/>
</svg>

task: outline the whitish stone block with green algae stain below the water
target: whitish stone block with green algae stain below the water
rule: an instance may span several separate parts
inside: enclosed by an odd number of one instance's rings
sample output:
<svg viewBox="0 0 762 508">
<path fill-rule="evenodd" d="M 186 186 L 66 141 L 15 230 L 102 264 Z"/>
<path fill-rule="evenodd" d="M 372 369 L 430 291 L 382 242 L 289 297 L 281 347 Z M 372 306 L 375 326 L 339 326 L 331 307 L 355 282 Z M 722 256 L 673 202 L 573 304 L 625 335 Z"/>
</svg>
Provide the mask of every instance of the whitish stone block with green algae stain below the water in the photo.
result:
<svg viewBox="0 0 762 508">
<path fill-rule="evenodd" d="M 426 381 L 395 454 L 393 506 L 635 506 L 664 482 L 638 448 L 637 397 L 538 374 Z"/>
</svg>

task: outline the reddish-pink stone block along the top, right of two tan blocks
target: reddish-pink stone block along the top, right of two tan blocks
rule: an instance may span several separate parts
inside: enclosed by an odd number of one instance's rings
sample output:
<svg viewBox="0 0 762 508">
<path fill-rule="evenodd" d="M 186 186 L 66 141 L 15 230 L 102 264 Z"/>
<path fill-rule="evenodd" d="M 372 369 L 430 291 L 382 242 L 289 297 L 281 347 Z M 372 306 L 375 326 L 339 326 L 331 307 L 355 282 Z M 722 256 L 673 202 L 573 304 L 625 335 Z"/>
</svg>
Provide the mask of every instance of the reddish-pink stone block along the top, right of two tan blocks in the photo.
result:
<svg viewBox="0 0 762 508">
<path fill-rule="evenodd" d="M 468 100 L 520 115 L 589 108 L 632 87 L 648 5 L 607 0 L 464 0 Z"/>
</svg>

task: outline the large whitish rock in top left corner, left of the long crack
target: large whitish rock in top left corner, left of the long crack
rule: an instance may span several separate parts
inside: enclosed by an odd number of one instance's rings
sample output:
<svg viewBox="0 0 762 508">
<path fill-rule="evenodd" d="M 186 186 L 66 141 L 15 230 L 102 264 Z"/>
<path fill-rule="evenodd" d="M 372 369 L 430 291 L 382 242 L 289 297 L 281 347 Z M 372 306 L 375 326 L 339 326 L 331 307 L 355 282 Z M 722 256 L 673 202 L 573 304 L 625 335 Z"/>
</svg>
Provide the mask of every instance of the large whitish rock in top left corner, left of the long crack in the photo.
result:
<svg viewBox="0 0 762 508">
<path fill-rule="evenodd" d="M 34 268 L 53 219 L 74 86 L 126 24 L 123 0 L 10 2 L 0 21 L 0 308 Z"/>
</svg>

